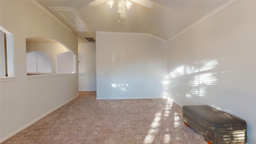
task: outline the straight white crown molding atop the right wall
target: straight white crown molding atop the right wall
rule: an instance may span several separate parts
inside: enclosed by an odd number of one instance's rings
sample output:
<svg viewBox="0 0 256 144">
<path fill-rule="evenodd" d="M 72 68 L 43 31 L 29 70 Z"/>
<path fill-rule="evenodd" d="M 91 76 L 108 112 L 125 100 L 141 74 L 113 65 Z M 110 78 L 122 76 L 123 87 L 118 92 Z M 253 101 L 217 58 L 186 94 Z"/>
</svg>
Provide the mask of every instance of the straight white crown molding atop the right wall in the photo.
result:
<svg viewBox="0 0 256 144">
<path fill-rule="evenodd" d="M 236 2 L 238 2 L 240 0 L 228 0 L 227 2 L 225 2 L 224 4 L 220 5 L 218 8 L 214 9 L 212 12 L 206 14 L 204 17 L 200 18 L 198 21 L 194 22 L 193 24 L 191 24 L 190 26 L 188 26 L 187 28 L 185 28 L 184 30 L 180 31 L 178 34 L 172 36 L 172 38 L 170 38 L 167 42 L 170 42 L 172 40 L 174 40 L 175 38 L 178 38 L 179 36 L 181 36 L 182 34 L 188 32 L 189 30 L 191 30 L 192 28 L 195 28 L 196 26 L 198 26 L 199 24 L 205 22 L 206 20 L 208 20 L 209 18 L 212 18 L 213 16 L 215 16 L 216 14 L 222 12 L 223 10 L 225 10 L 226 8 L 232 6 L 233 4 L 235 4 Z"/>
</svg>

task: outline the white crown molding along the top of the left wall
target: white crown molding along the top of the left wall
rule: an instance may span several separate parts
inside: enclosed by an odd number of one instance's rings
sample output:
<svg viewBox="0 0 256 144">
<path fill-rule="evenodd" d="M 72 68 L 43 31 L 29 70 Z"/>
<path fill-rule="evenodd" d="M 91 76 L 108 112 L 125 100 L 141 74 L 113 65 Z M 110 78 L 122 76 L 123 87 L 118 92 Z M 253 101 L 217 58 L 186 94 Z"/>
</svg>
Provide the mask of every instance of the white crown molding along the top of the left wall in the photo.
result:
<svg viewBox="0 0 256 144">
<path fill-rule="evenodd" d="M 68 28 L 68 26 L 66 26 L 66 24 L 64 24 L 61 20 L 59 20 L 56 16 L 54 16 L 51 12 L 49 12 L 46 8 L 44 8 L 41 4 L 39 4 L 36 0 L 28 0 L 29 2 L 31 2 L 32 4 L 34 4 L 34 6 L 36 6 L 37 8 L 39 8 L 40 10 L 42 10 L 42 12 L 44 12 L 46 15 L 50 16 L 50 18 L 52 18 L 53 20 L 55 20 L 58 24 L 60 24 L 61 26 L 63 26 L 66 30 L 68 30 L 69 32 L 72 32 L 73 30 Z"/>
</svg>

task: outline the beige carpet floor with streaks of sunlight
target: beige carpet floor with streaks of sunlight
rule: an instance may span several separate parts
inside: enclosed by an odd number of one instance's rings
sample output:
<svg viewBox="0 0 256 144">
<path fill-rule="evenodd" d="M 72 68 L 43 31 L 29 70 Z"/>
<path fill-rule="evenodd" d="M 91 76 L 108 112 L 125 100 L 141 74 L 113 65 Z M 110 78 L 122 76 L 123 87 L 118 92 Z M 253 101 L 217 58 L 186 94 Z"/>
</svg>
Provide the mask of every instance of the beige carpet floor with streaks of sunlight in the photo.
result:
<svg viewBox="0 0 256 144">
<path fill-rule="evenodd" d="M 2 144 L 207 144 L 170 99 L 96 100 L 80 96 Z"/>
</svg>

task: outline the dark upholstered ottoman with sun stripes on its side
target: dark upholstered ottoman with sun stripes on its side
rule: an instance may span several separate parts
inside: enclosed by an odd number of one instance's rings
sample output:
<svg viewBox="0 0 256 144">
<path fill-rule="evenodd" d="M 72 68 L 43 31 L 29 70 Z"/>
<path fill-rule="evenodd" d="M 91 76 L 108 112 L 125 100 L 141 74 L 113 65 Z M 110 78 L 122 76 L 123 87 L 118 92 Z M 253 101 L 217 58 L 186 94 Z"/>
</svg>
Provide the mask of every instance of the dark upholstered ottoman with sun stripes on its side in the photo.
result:
<svg viewBox="0 0 256 144">
<path fill-rule="evenodd" d="M 247 142 L 245 120 L 208 105 L 183 106 L 183 121 L 201 134 L 208 144 Z"/>
</svg>

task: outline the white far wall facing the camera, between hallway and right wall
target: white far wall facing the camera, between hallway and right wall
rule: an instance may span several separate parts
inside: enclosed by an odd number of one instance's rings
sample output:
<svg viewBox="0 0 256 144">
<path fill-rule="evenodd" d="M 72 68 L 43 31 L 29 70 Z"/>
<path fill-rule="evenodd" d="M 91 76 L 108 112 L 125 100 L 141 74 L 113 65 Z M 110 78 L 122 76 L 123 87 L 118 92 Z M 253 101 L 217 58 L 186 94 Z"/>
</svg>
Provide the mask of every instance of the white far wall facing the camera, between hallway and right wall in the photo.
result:
<svg viewBox="0 0 256 144">
<path fill-rule="evenodd" d="M 96 39 L 97 99 L 162 98 L 166 43 L 132 33 Z"/>
</svg>

